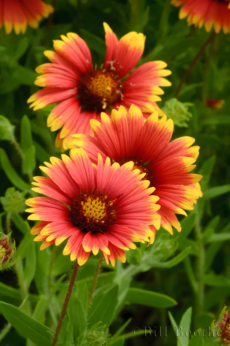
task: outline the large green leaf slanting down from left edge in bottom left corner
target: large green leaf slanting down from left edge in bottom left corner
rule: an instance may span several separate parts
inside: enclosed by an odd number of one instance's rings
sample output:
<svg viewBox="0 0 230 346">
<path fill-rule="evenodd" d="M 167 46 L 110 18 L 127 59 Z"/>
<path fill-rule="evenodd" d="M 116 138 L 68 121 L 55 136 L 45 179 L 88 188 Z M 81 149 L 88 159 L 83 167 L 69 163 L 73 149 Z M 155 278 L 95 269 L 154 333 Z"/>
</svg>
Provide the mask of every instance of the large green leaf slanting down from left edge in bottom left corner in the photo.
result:
<svg viewBox="0 0 230 346">
<path fill-rule="evenodd" d="M 23 337 L 30 339 L 38 346 L 51 346 L 53 331 L 50 328 L 11 304 L 0 302 L 0 311 Z"/>
</svg>

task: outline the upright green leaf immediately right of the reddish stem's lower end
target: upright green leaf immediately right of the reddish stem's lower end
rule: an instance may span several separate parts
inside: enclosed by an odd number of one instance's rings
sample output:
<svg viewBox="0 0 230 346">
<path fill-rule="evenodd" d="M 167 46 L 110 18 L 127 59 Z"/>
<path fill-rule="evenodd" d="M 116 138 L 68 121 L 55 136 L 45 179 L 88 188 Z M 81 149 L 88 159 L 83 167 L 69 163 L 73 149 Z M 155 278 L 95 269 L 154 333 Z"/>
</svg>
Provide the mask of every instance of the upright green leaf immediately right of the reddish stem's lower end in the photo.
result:
<svg viewBox="0 0 230 346">
<path fill-rule="evenodd" d="M 84 334 L 86 330 L 86 312 L 77 295 L 71 297 L 69 305 L 70 320 L 73 322 L 73 335 L 75 338 Z"/>
</svg>

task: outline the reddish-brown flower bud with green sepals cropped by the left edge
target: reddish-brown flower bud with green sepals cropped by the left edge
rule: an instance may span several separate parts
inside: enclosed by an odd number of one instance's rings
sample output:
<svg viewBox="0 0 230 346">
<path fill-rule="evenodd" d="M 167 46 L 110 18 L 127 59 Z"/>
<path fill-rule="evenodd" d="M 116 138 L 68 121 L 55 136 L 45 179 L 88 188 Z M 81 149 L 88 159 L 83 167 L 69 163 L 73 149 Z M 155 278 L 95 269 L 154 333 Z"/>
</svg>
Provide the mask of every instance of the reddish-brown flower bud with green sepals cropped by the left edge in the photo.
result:
<svg viewBox="0 0 230 346">
<path fill-rule="evenodd" d="M 15 242 L 9 244 L 10 235 L 11 233 L 8 236 L 4 234 L 0 236 L 0 270 L 7 269 L 16 262 L 11 261 L 11 258 L 16 253 L 16 247 Z"/>
</svg>

